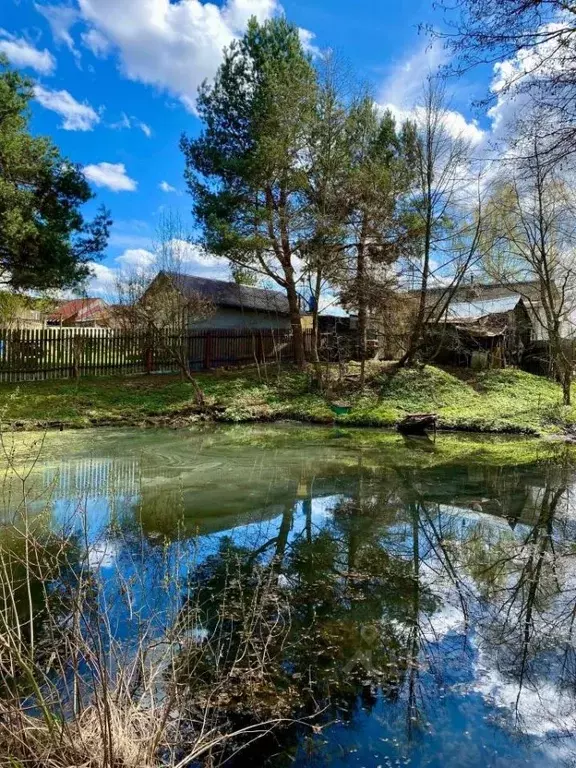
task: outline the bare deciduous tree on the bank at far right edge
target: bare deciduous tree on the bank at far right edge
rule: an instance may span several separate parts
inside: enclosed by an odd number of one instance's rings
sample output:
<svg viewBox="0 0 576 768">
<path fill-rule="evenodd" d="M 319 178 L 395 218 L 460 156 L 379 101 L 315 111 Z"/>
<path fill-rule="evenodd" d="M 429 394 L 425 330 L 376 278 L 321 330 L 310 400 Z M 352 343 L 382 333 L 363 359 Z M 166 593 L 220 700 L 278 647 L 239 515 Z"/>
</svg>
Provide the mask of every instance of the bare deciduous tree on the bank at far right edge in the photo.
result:
<svg viewBox="0 0 576 768">
<path fill-rule="evenodd" d="M 576 335 L 576 196 L 558 166 L 542 158 L 536 124 L 530 143 L 530 158 L 507 164 L 493 192 L 485 269 L 522 296 L 548 340 L 569 405 Z M 527 281 L 536 281 L 536 295 L 524 289 Z"/>
</svg>

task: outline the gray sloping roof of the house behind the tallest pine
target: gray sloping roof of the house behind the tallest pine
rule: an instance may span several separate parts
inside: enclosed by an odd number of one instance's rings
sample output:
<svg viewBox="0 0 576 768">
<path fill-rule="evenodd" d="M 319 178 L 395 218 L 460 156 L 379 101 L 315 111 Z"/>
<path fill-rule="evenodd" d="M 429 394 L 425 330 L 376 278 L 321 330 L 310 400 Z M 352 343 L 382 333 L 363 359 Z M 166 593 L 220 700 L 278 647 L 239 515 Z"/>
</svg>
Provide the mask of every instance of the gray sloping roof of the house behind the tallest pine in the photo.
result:
<svg viewBox="0 0 576 768">
<path fill-rule="evenodd" d="M 210 280 L 207 277 L 195 275 L 171 272 L 166 274 L 185 296 L 200 294 L 211 299 L 218 307 L 246 309 L 251 312 L 273 312 L 277 315 L 290 313 L 288 299 L 279 291 L 227 283 L 225 280 Z"/>
</svg>

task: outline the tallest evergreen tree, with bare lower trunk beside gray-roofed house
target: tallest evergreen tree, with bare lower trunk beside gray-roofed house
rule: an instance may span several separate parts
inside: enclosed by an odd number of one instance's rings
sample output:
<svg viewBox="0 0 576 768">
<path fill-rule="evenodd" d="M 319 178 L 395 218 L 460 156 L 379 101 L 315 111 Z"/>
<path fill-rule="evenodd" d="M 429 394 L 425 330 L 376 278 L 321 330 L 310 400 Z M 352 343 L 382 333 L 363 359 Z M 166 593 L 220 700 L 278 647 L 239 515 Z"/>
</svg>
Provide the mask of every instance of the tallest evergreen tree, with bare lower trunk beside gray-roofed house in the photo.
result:
<svg viewBox="0 0 576 768">
<path fill-rule="evenodd" d="M 252 19 L 214 82 L 200 88 L 202 133 L 181 141 L 205 247 L 286 291 L 301 365 L 298 280 L 314 236 L 306 147 L 316 87 L 298 29 L 284 18 Z"/>
</svg>

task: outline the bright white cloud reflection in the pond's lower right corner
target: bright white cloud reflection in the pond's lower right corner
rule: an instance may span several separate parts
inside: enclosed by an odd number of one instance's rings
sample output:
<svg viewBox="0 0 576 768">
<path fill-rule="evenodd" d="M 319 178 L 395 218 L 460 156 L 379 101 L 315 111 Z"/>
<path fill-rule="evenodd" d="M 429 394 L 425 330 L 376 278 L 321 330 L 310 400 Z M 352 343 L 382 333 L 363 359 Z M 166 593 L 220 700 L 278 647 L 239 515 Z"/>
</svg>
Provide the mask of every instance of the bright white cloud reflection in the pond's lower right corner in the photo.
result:
<svg viewBox="0 0 576 768">
<path fill-rule="evenodd" d="M 442 505 L 441 514 L 445 518 L 453 518 L 455 524 L 450 526 L 450 531 L 453 536 L 455 535 L 456 542 L 461 535 L 464 539 L 467 528 L 473 526 L 479 526 L 478 530 L 482 531 L 484 543 L 496 541 L 503 531 L 510 533 L 516 539 L 513 552 L 517 569 L 525 566 L 526 559 L 533 554 L 533 549 L 526 547 L 525 544 L 525 538 L 532 530 L 527 525 L 518 525 L 512 533 L 506 519 L 479 511 L 471 512 L 452 505 Z M 550 552 L 544 555 L 543 562 L 548 567 L 552 567 L 552 560 L 554 560 L 556 577 L 560 578 L 562 585 L 560 591 L 554 594 L 552 603 L 549 606 L 541 605 L 532 616 L 531 636 L 533 642 L 540 646 L 539 653 L 533 661 L 538 662 L 540 657 L 539 671 L 532 670 L 531 674 L 527 673 L 522 683 L 519 679 L 514 679 L 512 671 L 508 675 L 500 671 L 501 668 L 506 669 L 509 663 L 506 648 L 514 642 L 511 635 L 514 635 L 515 630 L 521 626 L 522 605 L 508 605 L 506 624 L 509 630 L 503 627 L 504 635 L 500 638 L 501 645 L 495 644 L 494 637 L 490 637 L 490 634 L 493 622 L 498 624 L 502 618 L 500 603 L 488 608 L 482 600 L 477 584 L 466 575 L 463 568 L 459 569 L 458 581 L 460 594 L 464 597 L 468 611 L 475 614 L 470 617 L 471 623 L 477 627 L 476 631 L 469 636 L 469 647 L 472 650 L 469 655 L 472 682 L 467 683 L 464 690 L 467 693 L 479 693 L 488 706 L 499 710 L 502 715 L 500 721 L 502 726 L 512 727 L 513 730 L 525 736 L 537 737 L 545 741 L 550 760 L 547 764 L 558 765 L 567 758 L 572 761 L 567 764 L 573 764 L 574 761 L 576 737 L 573 734 L 576 729 L 576 701 L 573 690 L 563 690 L 561 681 L 557 679 L 558 667 L 561 665 L 560 652 L 557 651 L 554 660 L 550 658 L 548 661 L 541 654 L 546 653 L 546 648 L 550 648 L 550 645 L 557 649 L 564 649 L 566 641 L 569 641 L 570 633 L 566 619 L 570 621 L 572 615 L 570 609 L 576 584 L 576 561 L 572 557 L 566 557 L 566 553 L 563 553 L 561 548 L 555 553 L 554 558 Z M 420 576 L 421 581 L 425 582 L 440 599 L 441 605 L 438 611 L 420 616 L 422 636 L 430 643 L 440 642 L 450 633 L 463 637 L 467 621 L 458 593 L 452 580 L 448 578 L 446 569 L 434 553 L 429 552 L 422 562 Z M 504 587 L 505 592 L 500 596 L 501 601 L 506 601 L 507 596 L 509 599 L 509 590 L 514 588 L 515 579 L 511 579 Z M 484 614 L 484 611 L 487 613 Z M 480 621 L 479 625 L 478 621 Z M 487 630 L 488 634 L 484 630 Z M 520 648 L 516 650 L 520 653 Z M 502 667 L 503 664 L 504 667 Z"/>
</svg>

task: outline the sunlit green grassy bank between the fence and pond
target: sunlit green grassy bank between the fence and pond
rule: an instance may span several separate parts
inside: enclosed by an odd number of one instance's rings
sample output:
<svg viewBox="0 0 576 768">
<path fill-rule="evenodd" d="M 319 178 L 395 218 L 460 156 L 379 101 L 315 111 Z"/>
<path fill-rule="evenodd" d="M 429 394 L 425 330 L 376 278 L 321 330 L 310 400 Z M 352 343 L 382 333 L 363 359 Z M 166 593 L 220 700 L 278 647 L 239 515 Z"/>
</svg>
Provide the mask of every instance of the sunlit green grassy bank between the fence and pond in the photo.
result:
<svg viewBox="0 0 576 768">
<path fill-rule="evenodd" d="M 353 373 L 353 371 L 352 371 Z M 220 371 L 198 376 L 210 418 L 224 422 L 295 419 L 349 426 L 394 426 L 407 413 L 433 411 L 442 429 L 516 434 L 560 433 L 576 422 L 561 405 L 554 382 L 513 369 L 445 371 L 432 366 L 370 370 L 366 389 L 354 377 L 336 399 L 351 406 L 335 417 L 329 398 L 311 391 L 305 373 L 291 369 Z M 192 387 L 176 376 L 86 378 L 0 385 L 4 421 L 18 428 L 186 424 L 200 418 Z"/>
</svg>

